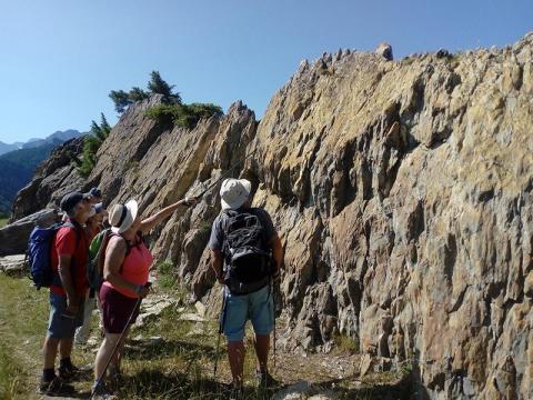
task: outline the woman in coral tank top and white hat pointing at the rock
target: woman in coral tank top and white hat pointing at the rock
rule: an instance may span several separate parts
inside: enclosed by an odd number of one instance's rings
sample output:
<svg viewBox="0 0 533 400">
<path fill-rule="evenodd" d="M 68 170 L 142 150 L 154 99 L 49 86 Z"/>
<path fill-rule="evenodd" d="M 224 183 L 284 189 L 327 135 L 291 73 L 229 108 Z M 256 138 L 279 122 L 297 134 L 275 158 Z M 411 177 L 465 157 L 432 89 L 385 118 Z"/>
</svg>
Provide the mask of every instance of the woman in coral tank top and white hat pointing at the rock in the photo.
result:
<svg viewBox="0 0 533 400">
<path fill-rule="evenodd" d="M 104 282 L 100 289 L 103 327 L 105 338 L 98 350 L 94 361 L 94 384 L 92 392 L 100 398 L 110 398 L 105 384 L 100 378 L 111 359 L 110 374 L 120 373 L 123 346 L 130 324 L 139 314 L 140 301 L 150 292 L 148 283 L 152 254 L 142 240 L 142 234 L 170 217 L 180 206 L 190 206 L 195 198 L 185 198 L 158 213 L 141 220 L 138 203 L 130 200 L 125 204 L 115 204 L 109 213 L 112 236 L 105 247 L 103 264 Z M 124 334 L 122 336 L 122 332 Z M 122 338 L 121 338 L 122 336 Z M 120 340 L 120 342 L 119 342 Z M 113 353 L 115 347 L 118 351 Z"/>
</svg>

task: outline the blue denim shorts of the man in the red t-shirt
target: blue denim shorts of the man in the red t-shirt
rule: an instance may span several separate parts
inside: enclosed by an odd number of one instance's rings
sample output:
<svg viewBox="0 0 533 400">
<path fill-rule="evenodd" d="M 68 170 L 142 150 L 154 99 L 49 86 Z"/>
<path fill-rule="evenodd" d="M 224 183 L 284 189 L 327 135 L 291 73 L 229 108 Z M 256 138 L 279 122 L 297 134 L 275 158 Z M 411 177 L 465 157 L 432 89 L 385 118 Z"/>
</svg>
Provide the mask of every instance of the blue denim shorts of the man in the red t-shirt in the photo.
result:
<svg viewBox="0 0 533 400">
<path fill-rule="evenodd" d="M 83 303 L 76 316 L 68 314 L 67 296 L 50 293 L 50 319 L 48 320 L 48 337 L 53 339 L 70 339 L 76 329 L 83 324 Z"/>
</svg>

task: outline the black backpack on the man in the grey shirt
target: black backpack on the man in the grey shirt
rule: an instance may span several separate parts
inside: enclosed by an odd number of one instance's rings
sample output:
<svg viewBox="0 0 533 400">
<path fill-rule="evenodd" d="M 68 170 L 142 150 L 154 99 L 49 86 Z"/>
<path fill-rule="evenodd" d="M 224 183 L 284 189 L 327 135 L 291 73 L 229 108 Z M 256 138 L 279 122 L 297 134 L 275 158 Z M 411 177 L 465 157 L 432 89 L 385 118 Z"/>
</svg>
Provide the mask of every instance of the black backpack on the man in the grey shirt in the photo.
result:
<svg viewBox="0 0 533 400">
<path fill-rule="evenodd" d="M 258 209 L 227 210 L 222 228 L 225 284 L 234 294 L 257 291 L 270 282 L 272 254 Z"/>
</svg>

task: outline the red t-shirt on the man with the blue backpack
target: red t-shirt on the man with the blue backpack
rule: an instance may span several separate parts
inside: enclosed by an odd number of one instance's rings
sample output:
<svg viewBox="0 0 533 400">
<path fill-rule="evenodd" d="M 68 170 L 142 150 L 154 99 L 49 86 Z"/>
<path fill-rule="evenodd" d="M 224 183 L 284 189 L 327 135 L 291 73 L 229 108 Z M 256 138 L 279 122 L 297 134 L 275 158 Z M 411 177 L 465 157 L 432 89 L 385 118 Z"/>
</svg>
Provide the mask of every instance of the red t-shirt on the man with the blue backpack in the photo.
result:
<svg viewBox="0 0 533 400">
<path fill-rule="evenodd" d="M 69 222 L 76 224 L 74 222 Z M 87 261 L 89 258 L 89 243 L 86 231 L 82 228 L 77 228 L 78 232 L 70 227 L 62 227 L 56 234 L 52 246 L 52 269 L 58 271 L 59 257 L 70 256 L 71 273 L 74 284 L 74 290 L 78 294 L 84 296 L 89 289 L 87 282 Z M 78 244 L 78 246 L 77 246 Z M 59 278 L 58 278 L 59 282 Z M 66 294 L 63 288 L 59 284 L 51 284 L 50 291 L 57 294 Z"/>
</svg>

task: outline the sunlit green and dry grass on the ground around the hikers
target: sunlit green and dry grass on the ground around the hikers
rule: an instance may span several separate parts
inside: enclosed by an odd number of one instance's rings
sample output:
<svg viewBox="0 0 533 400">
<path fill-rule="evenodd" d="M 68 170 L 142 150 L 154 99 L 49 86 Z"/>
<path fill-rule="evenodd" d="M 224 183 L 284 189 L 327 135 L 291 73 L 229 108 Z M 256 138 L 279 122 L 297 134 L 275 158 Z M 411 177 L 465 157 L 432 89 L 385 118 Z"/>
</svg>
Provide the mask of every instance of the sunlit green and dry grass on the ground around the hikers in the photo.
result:
<svg viewBox="0 0 533 400">
<path fill-rule="evenodd" d="M 164 276 L 171 273 L 171 263 L 159 266 Z M 159 279 L 158 279 L 159 282 Z M 155 287 L 155 294 L 162 289 Z M 169 290 L 164 290 L 169 293 Z M 111 389 L 121 399 L 220 399 L 225 383 L 231 381 L 225 340 L 221 338 L 217 350 L 218 323 L 215 320 L 185 321 L 183 313 L 194 311 L 187 304 L 187 292 L 175 287 L 173 297 L 181 298 L 167 308 L 157 319 L 132 329 L 122 364 L 122 377 L 111 382 Z M 98 317 L 93 317 L 92 337 L 100 343 Z M 28 279 L 0 274 L 0 400 L 36 398 L 34 389 L 42 368 L 41 346 L 48 320 L 48 291 L 37 291 Z M 279 332 L 280 334 L 280 332 Z M 157 339 L 151 339 L 157 337 Z M 272 391 L 257 389 L 254 382 L 255 354 L 252 331 L 247 329 L 244 363 L 244 399 L 268 399 Z M 92 363 L 97 347 L 74 347 L 73 362 L 78 366 Z M 339 338 L 336 354 L 346 357 L 355 350 L 349 338 Z M 273 376 L 290 384 L 298 380 L 313 382 L 313 388 L 332 389 L 340 399 L 374 399 L 386 393 L 396 393 L 405 386 L 410 366 L 396 373 L 374 372 L 362 380 L 363 387 L 353 389 L 352 378 L 339 381 L 329 369 L 322 367 L 329 359 L 325 354 L 302 358 L 284 353 L 278 348 Z M 348 356 L 356 359 L 356 356 Z M 217 379 L 213 364 L 218 358 Z M 272 366 L 272 360 L 271 360 Z M 273 367 L 273 366 L 272 366 Z M 79 393 L 88 393 L 92 383 L 90 376 L 74 383 Z"/>
</svg>

